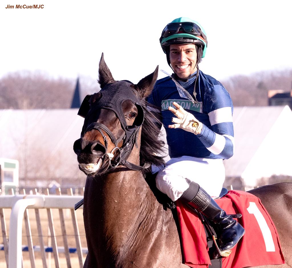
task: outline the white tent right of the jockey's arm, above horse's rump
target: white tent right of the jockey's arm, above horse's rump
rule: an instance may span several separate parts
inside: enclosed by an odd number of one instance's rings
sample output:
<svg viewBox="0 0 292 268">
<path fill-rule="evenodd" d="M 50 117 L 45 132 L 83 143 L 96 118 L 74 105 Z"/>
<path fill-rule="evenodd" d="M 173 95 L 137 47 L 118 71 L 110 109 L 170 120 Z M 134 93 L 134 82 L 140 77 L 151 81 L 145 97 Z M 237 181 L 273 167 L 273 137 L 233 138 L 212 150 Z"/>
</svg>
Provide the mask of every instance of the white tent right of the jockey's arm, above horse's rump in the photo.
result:
<svg viewBox="0 0 292 268">
<path fill-rule="evenodd" d="M 233 113 L 235 151 L 224 160 L 227 177 L 246 185 L 275 175 L 292 176 L 292 112 L 288 106 L 236 107 Z"/>
</svg>

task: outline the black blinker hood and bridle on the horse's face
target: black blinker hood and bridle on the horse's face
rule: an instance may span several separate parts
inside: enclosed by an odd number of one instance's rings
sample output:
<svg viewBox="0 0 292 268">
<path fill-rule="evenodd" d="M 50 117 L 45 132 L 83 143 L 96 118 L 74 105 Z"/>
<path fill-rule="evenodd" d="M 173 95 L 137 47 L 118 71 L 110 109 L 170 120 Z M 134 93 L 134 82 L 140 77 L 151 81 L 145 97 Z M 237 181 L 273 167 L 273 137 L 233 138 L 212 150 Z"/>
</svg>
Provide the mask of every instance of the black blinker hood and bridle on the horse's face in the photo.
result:
<svg viewBox="0 0 292 268">
<path fill-rule="evenodd" d="M 125 132 L 124 136 L 119 137 L 118 139 L 115 135 L 109 130 L 107 126 L 102 123 L 93 122 L 88 126 L 85 126 L 86 120 L 84 120 L 84 125 L 81 132 L 81 137 L 90 130 L 98 130 L 102 135 L 104 145 L 106 148 L 105 155 L 102 156 L 102 163 L 100 169 L 95 174 L 95 176 L 100 176 L 107 172 L 113 171 L 117 166 L 123 165 L 130 170 L 142 170 L 150 167 L 149 163 L 145 163 L 143 166 L 135 165 L 131 162 L 128 162 L 127 159 L 133 150 L 134 145 L 138 148 L 138 132 L 144 121 L 144 110 L 141 106 L 140 100 L 137 98 L 133 89 L 130 87 L 132 85 L 129 81 L 116 81 L 109 85 L 106 85 L 100 91 L 100 98 L 94 104 L 94 108 L 90 107 L 89 101 L 92 95 L 87 95 L 78 111 L 78 115 L 81 117 L 88 117 L 92 113 L 95 113 L 99 109 L 112 110 L 117 115 L 118 119 L 121 122 L 121 126 Z M 117 96 L 117 98 L 115 98 Z M 130 100 L 135 104 L 138 114 L 133 122 L 133 125 L 129 126 L 126 123 L 124 113 L 122 110 L 122 103 L 125 100 Z M 108 140 L 107 136 L 114 143 L 114 148 L 110 153 L 107 152 L 108 149 Z M 123 140 L 123 145 L 118 146 L 118 143 Z"/>
</svg>

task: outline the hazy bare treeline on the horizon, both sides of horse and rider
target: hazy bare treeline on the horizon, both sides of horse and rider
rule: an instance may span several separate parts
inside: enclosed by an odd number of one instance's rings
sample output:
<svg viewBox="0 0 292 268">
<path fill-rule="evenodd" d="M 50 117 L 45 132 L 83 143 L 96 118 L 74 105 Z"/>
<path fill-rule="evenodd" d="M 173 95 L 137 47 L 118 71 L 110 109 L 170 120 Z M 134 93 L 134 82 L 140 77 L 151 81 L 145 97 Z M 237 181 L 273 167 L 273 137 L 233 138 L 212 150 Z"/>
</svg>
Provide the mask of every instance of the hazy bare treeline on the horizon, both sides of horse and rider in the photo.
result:
<svg viewBox="0 0 292 268">
<path fill-rule="evenodd" d="M 79 77 L 81 99 L 98 92 L 96 79 Z M 234 106 L 266 106 L 271 89 L 290 91 L 292 70 L 237 75 L 222 82 Z M 0 79 L 0 109 L 70 108 L 76 79 L 54 79 L 42 72 L 21 71 Z"/>
</svg>

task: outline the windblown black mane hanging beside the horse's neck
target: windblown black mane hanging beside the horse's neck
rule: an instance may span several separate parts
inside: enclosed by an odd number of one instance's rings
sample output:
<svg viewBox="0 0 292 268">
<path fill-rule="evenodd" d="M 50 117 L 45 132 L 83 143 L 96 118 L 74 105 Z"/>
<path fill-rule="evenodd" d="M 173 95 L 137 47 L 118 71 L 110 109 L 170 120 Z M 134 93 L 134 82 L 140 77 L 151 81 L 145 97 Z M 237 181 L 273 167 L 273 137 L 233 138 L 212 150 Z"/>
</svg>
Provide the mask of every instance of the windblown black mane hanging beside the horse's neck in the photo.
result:
<svg viewBox="0 0 292 268">
<path fill-rule="evenodd" d="M 142 100 L 142 108 L 144 110 L 144 122 L 141 132 L 141 147 L 140 147 L 140 165 L 145 162 L 156 166 L 165 166 L 164 156 L 164 141 L 159 139 L 161 121 L 157 114 L 150 112 L 149 107 L 153 107 L 150 103 Z M 157 107 L 156 107 L 157 108 Z M 151 172 L 151 169 L 145 170 L 144 175 Z"/>
</svg>

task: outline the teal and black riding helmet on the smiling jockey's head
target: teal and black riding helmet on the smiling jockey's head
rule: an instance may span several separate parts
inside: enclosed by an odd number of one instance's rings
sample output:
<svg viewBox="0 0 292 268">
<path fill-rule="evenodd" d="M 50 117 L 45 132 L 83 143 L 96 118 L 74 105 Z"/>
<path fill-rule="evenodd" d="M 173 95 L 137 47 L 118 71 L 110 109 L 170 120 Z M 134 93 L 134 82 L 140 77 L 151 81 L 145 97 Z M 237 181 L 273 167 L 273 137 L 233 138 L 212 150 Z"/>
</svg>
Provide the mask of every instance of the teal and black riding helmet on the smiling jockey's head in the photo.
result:
<svg viewBox="0 0 292 268">
<path fill-rule="evenodd" d="M 196 21 L 184 17 L 168 23 L 162 31 L 159 41 L 164 53 L 166 53 L 166 47 L 171 44 L 199 44 L 203 50 L 202 58 L 206 54 L 208 45 L 203 27 Z"/>
</svg>

